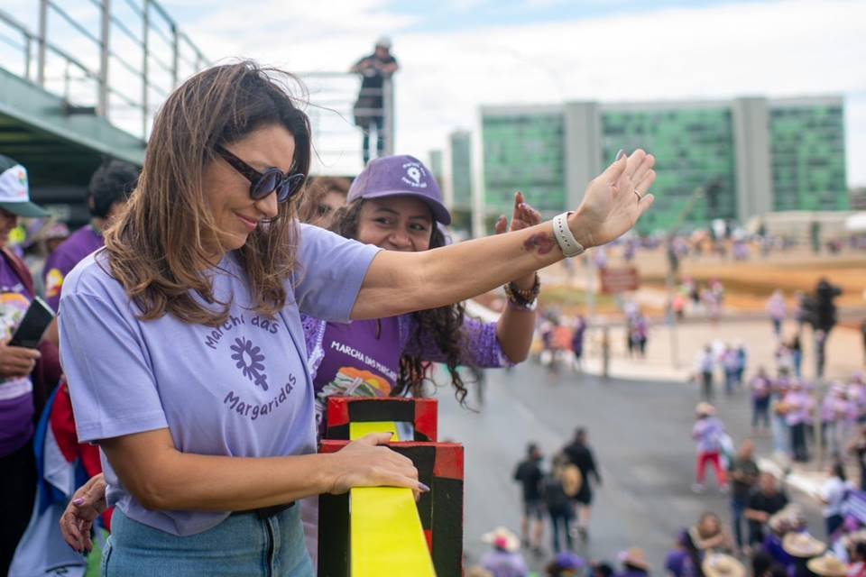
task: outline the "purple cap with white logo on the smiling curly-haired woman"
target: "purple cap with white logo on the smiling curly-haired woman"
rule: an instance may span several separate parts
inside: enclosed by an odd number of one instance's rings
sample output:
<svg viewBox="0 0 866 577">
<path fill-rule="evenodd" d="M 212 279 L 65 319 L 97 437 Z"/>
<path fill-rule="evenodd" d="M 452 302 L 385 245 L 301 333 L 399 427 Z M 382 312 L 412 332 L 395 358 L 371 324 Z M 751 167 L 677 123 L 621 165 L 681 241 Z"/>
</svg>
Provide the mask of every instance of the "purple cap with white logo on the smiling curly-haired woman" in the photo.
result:
<svg viewBox="0 0 866 577">
<path fill-rule="evenodd" d="M 356 198 L 416 197 L 430 207 L 438 223 L 451 224 L 442 191 L 429 169 L 414 156 L 386 156 L 370 160 L 349 188 L 346 202 Z"/>
</svg>

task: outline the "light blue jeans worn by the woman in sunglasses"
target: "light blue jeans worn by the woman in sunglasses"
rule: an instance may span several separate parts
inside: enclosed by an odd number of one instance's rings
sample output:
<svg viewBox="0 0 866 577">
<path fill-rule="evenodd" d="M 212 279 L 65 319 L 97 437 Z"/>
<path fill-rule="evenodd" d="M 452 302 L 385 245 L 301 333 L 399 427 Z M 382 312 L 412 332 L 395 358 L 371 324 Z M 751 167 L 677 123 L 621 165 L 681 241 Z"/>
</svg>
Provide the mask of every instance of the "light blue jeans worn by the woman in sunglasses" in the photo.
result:
<svg viewBox="0 0 866 577">
<path fill-rule="evenodd" d="M 115 509 L 102 555 L 103 577 L 313 577 L 300 507 L 269 519 L 232 515 L 202 533 L 174 536 Z"/>
</svg>

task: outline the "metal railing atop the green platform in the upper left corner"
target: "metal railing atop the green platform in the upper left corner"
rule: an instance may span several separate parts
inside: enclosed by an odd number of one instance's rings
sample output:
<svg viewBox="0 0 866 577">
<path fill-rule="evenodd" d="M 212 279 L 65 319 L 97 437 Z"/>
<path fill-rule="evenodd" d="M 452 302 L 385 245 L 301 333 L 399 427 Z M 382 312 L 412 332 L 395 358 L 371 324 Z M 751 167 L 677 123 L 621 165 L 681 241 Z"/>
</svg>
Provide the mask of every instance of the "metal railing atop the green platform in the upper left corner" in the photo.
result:
<svg viewBox="0 0 866 577">
<path fill-rule="evenodd" d="M 0 10 L 0 42 L 17 52 L 20 75 L 62 96 L 68 114 L 104 116 L 144 140 L 162 100 L 210 64 L 156 0 L 34 4 L 35 32 Z M 15 72 L 14 60 L 4 68 Z"/>
</svg>

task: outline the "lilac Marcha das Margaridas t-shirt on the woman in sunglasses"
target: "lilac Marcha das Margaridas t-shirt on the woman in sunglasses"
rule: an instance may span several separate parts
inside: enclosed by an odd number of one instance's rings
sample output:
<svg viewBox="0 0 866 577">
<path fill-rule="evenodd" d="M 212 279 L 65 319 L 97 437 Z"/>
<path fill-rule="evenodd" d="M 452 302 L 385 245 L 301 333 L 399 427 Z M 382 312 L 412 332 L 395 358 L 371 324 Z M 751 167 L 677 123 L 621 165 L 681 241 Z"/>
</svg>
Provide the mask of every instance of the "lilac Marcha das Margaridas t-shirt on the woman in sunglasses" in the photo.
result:
<svg viewBox="0 0 866 577">
<path fill-rule="evenodd" d="M 275 318 L 252 310 L 234 254 L 209 271 L 217 300 L 232 303 L 217 328 L 168 315 L 140 321 L 106 272 L 107 254 L 81 261 L 64 283 L 60 308 L 60 356 L 78 438 L 96 442 L 168 427 L 184 453 L 314 453 L 314 399 L 299 312 L 347 321 L 379 249 L 316 227 L 300 230 L 298 266 L 286 283 L 290 302 Z M 187 536 L 229 515 L 149 511 L 124 490 L 105 455 L 103 466 L 109 504 L 144 525 Z"/>
</svg>

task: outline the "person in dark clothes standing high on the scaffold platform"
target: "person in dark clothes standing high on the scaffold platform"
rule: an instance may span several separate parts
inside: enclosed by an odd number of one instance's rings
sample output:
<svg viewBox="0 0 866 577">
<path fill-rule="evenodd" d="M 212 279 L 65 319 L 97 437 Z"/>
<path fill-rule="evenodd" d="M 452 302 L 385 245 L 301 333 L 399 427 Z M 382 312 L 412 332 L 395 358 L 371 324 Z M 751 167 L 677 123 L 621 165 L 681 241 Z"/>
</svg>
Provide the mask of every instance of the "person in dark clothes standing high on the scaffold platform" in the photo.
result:
<svg viewBox="0 0 866 577">
<path fill-rule="evenodd" d="M 391 78 L 392 74 L 400 69 L 391 54 L 391 40 L 382 36 L 376 41 L 376 49 L 373 54 L 364 56 L 355 62 L 350 72 L 360 74 L 361 91 L 355 101 L 355 125 L 364 133 L 362 147 L 364 149 L 364 166 L 370 161 L 370 152 L 373 148 L 370 136 L 373 128 L 376 131 L 376 158 L 381 157 L 385 151 L 385 102 L 383 91 L 385 78 Z"/>
</svg>

